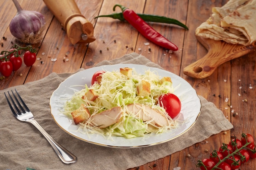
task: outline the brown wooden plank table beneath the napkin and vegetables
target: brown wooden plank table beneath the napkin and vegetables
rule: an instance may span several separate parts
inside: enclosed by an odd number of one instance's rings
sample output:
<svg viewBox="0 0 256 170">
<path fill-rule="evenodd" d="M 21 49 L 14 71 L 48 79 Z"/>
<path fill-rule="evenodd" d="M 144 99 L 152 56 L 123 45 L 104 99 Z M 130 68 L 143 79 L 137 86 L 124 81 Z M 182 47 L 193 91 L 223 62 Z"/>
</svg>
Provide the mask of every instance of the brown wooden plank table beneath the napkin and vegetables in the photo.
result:
<svg viewBox="0 0 256 170">
<path fill-rule="evenodd" d="M 136 52 L 159 64 L 165 70 L 184 78 L 195 88 L 198 95 L 213 102 L 234 125 L 230 131 L 213 135 L 180 152 L 149 162 L 140 166 L 140 170 L 150 170 L 150 166 L 155 163 L 157 166 L 153 168 L 154 170 L 173 170 L 178 166 L 182 170 L 199 169 L 195 167 L 197 160 L 209 157 L 212 150 L 218 149 L 222 142 L 228 143 L 234 135 L 240 137 L 242 132 L 248 132 L 256 136 L 254 116 L 256 106 L 256 57 L 254 56 L 256 52 L 222 64 L 211 76 L 204 79 L 195 79 L 183 74 L 184 67 L 207 53 L 207 50 L 196 40 L 195 29 L 209 18 L 212 7 L 221 7 L 228 0 L 76 0 L 81 13 L 94 25 L 94 35 L 97 40 L 89 46 L 87 44 L 72 45 L 60 22 L 54 18 L 43 0 L 18 1 L 23 9 L 39 11 L 45 15 L 47 23 L 44 39 L 33 45 L 35 48 L 40 47 L 37 53 L 40 60 L 36 60 L 31 67 L 22 64 L 18 71 L 0 80 L 0 89 L 35 81 L 52 72 L 73 73 L 79 68 L 91 68 L 102 60 L 112 60 Z M 112 7 L 117 3 L 137 13 L 164 15 L 186 24 L 189 31 L 170 24 L 150 23 L 155 30 L 174 42 L 179 50 L 170 54 L 150 43 L 151 51 L 149 51 L 148 46 L 144 45 L 144 42 L 148 40 L 127 22 L 111 18 L 94 20 L 97 15 L 112 13 Z M 0 7 L 0 42 L 3 42 L 0 49 L 2 51 L 10 49 L 11 42 L 16 41 L 9 31 L 9 23 L 16 14 L 16 9 L 10 0 L 0 0 Z M 118 9 L 117 12 L 120 10 Z M 7 40 L 3 40 L 2 37 Z M 57 60 L 53 62 L 51 59 L 55 58 Z M 64 58 L 69 61 L 63 62 Z M 252 89 L 249 88 L 250 86 Z M 228 102 L 225 102 L 226 98 L 229 98 Z M 238 115 L 234 117 L 232 110 Z M 206 150 L 209 152 L 205 152 Z M 138 168 L 131 170 L 136 169 Z M 255 169 L 255 159 L 241 166 L 241 170 Z"/>
</svg>

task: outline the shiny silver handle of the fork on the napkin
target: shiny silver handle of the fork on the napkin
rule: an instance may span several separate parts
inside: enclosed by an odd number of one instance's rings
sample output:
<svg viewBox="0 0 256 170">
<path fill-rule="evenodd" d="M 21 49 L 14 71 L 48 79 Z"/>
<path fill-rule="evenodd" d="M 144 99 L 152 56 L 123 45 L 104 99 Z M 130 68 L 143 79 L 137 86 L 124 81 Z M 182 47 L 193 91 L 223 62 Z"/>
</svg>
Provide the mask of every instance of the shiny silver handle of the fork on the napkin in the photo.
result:
<svg viewBox="0 0 256 170">
<path fill-rule="evenodd" d="M 37 123 L 35 119 L 30 119 L 29 123 L 36 126 L 36 128 L 43 134 L 43 136 L 47 139 L 47 141 L 52 146 L 52 148 L 63 163 L 71 164 L 77 161 L 76 156 L 74 156 L 71 152 L 58 144 L 58 142 L 56 142 L 47 132 L 45 132 L 45 130 Z"/>
</svg>

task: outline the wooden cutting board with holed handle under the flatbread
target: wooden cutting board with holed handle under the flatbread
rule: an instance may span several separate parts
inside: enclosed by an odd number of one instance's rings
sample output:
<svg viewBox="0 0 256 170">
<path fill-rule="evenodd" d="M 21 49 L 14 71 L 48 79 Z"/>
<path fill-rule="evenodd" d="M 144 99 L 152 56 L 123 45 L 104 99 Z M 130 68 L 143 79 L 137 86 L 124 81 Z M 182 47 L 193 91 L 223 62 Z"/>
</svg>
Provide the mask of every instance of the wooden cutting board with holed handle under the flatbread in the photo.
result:
<svg viewBox="0 0 256 170">
<path fill-rule="evenodd" d="M 256 41 L 248 46 L 243 46 L 205 39 L 199 36 L 197 36 L 197 39 L 208 50 L 208 53 L 196 62 L 186 66 L 183 73 L 198 79 L 210 76 L 218 66 L 229 60 L 256 51 Z"/>
</svg>

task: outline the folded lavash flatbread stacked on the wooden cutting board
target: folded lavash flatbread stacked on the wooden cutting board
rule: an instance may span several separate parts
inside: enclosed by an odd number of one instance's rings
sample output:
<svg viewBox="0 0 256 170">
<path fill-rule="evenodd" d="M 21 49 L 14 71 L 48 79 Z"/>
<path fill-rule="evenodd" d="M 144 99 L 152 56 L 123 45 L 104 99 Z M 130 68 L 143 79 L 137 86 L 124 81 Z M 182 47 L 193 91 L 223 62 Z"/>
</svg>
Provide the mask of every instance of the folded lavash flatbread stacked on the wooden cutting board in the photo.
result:
<svg viewBox="0 0 256 170">
<path fill-rule="evenodd" d="M 256 40 L 256 0 L 229 0 L 213 7 L 212 15 L 195 35 L 231 44 L 249 45 Z"/>
</svg>

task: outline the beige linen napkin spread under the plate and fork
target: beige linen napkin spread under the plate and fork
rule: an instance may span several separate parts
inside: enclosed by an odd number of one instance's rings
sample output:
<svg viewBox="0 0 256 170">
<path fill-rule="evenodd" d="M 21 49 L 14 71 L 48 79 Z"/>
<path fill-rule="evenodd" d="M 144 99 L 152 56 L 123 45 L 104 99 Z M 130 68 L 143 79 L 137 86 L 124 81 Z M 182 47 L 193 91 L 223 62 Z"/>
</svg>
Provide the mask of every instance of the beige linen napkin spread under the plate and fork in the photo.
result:
<svg viewBox="0 0 256 170">
<path fill-rule="evenodd" d="M 137 53 L 124 55 L 112 61 L 103 61 L 97 66 L 119 63 L 143 64 L 161 68 Z M 79 71 L 81 70 L 83 69 Z M 36 170 L 126 170 L 183 150 L 213 134 L 233 127 L 213 103 L 200 97 L 202 112 L 195 125 L 188 132 L 172 141 L 145 148 L 127 149 L 89 144 L 64 132 L 55 123 L 50 113 L 49 99 L 52 92 L 70 75 L 72 74 L 52 73 L 38 81 L 0 91 L 1 170 L 25 170 L 26 167 Z M 13 117 L 9 106 L 7 106 L 4 92 L 14 88 L 25 99 L 35 119 L 45 131 L 78 157 L 76 163 L 63 164 L 43 135 L 34 126 L 20 122 Z"/>
</svg>

